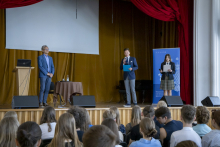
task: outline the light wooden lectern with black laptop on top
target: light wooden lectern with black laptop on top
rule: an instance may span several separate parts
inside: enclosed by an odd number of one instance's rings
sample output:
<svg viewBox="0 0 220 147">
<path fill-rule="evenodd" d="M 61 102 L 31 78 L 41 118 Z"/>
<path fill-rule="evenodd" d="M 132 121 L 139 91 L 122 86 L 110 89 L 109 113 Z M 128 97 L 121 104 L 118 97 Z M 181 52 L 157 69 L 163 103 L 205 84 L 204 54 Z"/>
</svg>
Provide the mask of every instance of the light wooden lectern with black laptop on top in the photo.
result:
<svg viewBox="0 0 220 147">
<path fill-rule="evenodd" d="M 31 70 L 34 67 L 16 66 L 12 72 L 16 73 L 17 94 L 28 95 Z"/>
</svg>

